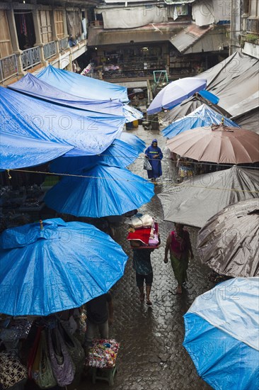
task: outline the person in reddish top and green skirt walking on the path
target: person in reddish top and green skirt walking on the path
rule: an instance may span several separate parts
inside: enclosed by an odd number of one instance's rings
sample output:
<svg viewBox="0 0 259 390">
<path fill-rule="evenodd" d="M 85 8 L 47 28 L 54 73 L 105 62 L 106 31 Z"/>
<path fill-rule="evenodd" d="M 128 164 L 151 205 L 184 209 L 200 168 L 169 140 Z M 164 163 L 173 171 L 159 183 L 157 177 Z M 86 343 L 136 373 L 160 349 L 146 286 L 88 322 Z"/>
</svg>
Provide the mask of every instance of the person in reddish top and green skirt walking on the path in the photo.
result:
<svg viewBox="0 0 259 390">
<path fill-rule="evenodd" d="M 178 282 L 176 292 L 182 294 L 183 283 L 187 281 L 187 269 L 189 255 L 193 259 L 192 245 L 190 235 L 183 225 L 175 223 L 175 230 L 171 231 L 166 240 L 166 250 L 164 262 L 168 262 L 168 250 L 170 250 L 171 265 L 175 279 Z"/>
</svg>

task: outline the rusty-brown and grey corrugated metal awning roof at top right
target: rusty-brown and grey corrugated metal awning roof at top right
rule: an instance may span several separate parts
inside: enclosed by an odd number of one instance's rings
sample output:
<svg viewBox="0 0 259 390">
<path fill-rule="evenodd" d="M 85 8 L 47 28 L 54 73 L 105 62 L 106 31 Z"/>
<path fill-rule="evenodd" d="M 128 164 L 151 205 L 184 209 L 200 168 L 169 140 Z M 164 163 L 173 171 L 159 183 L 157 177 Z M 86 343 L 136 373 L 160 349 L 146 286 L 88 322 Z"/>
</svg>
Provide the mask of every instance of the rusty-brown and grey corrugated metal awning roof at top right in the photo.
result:
<svg viewBox="0 0 259 390">
<path fill-rule="evenodd" d="M 212 52 L 229 46 L 227 29 L 223 26 L 201 28 L 195 24 L 170 39 L 181 53 Z"/>
</svg>

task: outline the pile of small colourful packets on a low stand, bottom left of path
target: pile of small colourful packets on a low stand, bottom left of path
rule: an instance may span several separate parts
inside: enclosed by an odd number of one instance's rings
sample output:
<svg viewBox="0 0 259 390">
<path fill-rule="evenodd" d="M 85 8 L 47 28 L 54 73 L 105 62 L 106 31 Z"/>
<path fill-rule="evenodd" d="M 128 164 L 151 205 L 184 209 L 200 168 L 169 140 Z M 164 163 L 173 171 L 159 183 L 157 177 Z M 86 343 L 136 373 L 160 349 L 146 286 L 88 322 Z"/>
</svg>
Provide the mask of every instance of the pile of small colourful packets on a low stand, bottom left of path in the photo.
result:
<svg viewBox="0 0 259 390">
<path fill-rule="evenodd" d="M 115 340 L 94 340 L 88 352 L 86 365 L 96 368 L 115 367 L 120 344 Z"/>
</svg>

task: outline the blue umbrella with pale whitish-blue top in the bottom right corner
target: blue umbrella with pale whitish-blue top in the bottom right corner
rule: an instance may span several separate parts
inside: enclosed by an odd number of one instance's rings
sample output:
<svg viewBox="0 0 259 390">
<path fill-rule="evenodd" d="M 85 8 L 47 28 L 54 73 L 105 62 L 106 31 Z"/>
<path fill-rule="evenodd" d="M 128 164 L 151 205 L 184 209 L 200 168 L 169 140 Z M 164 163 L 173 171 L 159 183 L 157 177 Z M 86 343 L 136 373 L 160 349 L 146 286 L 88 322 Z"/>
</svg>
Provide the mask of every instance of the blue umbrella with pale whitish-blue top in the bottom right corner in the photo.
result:
<svg viewBox="0 0 259 390">
<path fill-rule="evenodd" d="M 259 278 L 236 278 L 198 296 L 184 316 L 184 347 L 217 390 L 257 389 Z"/>
</svg>

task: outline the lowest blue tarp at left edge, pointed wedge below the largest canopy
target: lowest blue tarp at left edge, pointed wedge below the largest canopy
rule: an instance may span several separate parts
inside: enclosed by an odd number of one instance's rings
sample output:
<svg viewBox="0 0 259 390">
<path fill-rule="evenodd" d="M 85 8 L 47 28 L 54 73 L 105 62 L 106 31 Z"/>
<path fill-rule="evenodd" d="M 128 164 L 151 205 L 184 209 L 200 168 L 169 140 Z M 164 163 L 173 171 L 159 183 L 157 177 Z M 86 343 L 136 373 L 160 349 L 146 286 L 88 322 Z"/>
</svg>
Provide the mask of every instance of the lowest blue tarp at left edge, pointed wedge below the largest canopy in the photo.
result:
<svg viewBox="0 0 259 390">
<path fill-rule="evenodd" d="M 33 167 L 54 160 L 73 149 L 50 141 L 0 133 L 0 169 Z"/>
</svg>

